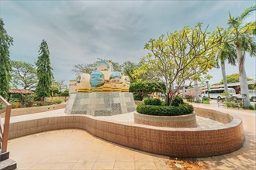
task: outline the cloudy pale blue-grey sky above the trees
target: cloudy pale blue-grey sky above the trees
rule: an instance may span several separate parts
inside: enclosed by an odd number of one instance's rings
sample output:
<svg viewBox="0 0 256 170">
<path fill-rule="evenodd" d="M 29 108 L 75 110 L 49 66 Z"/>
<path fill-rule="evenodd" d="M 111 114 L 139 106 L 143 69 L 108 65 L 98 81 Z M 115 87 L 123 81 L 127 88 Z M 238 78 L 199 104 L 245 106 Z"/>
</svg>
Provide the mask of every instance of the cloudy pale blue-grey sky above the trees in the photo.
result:
<svg viewBox="0 0 256 170">
<path fill-rule="evenodd" d="M 13 37 L 12 60 L 35 63 L 40 42 L 50 49 L 55 80 L 74 80 L 72 69 L 78 63 L 93 63 L 97 58 L 118 63 L 138 63 L 148 51 L 150 38 L 195 26 L 203 22 L 209 31 L 227 27 L 229 12 L 237 16 L 255 1 L 3 1 L 0 17 Z M 256 19 L 255 13 L 248 21 Z M 245 60 L 247 76 L 256 78 L 256 58 Z M 238 73 L 227 65 L 227 75 Z M 209 71 L 209 83 L 222 79 L 221 70 Z"/>
</svg>

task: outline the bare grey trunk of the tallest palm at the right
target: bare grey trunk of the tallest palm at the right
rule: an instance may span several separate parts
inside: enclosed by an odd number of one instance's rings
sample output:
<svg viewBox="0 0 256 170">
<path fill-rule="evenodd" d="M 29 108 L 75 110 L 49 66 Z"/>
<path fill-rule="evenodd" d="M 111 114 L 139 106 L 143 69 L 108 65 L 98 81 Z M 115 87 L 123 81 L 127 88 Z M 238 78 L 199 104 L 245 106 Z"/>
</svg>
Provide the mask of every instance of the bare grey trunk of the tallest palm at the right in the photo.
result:
<svg viewBox="0 0 256 170">
<path fill-rule="evenodd" d="M 244 69 L 244 55 L 242 49 L 240 49 L 239 46 L 236 46 L 236 49 L 241 95 L 244 98 L 244 106 L 250 106 L 251 104 L 249 99 L 247 76 Z"/>
</svg>

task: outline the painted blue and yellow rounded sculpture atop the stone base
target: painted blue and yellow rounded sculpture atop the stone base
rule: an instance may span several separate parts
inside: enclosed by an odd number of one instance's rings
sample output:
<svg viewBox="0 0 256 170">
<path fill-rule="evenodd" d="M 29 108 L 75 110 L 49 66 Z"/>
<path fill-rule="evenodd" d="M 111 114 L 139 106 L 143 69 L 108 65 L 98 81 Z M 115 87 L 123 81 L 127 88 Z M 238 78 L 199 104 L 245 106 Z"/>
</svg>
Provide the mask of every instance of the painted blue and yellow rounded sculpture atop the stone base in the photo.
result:
<svg viewBox="0 0 256 170">
<path fill-rule="evenodd" d="M 91 74 L 81 73 L 77 83 L 78 92 L 122 91 L 129 92 L 130 79 L 120 72 L 115 72 L 112 63 L 102 61 Z"/>
</svg>

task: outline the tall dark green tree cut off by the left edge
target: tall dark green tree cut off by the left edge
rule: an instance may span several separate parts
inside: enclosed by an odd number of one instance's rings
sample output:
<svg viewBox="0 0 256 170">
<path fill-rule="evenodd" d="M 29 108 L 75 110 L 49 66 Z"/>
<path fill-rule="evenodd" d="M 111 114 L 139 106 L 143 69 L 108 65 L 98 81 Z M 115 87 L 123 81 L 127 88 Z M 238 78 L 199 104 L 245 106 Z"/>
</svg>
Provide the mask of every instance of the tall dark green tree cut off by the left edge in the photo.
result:
<svg viewBox="0 0 256 170">
<path fill-rule="evenodd" d="M 12 46 L 12 37 L 9 36 L 4 28 L 4 22 L 0 18 L 0 95 L 7 97 L 11 81 L 11 61 L 9 47 Z"/>
</svg>

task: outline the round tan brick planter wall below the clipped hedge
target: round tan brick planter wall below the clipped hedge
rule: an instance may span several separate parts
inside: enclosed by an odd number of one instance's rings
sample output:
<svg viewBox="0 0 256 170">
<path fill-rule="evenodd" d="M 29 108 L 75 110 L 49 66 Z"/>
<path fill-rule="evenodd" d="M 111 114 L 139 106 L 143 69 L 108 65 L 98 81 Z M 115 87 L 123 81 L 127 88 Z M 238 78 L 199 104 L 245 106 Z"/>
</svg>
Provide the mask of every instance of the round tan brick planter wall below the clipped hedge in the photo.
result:
<svg viewBox="0 0 256 170">
<path fill-rule="evenodd" d="M 153 116 L 134 112 L 135 124 L 146 124 L 168 128 L 196 128 L 195 113 L 180 116 Z"/>
</svg>

